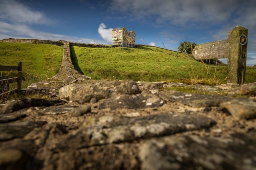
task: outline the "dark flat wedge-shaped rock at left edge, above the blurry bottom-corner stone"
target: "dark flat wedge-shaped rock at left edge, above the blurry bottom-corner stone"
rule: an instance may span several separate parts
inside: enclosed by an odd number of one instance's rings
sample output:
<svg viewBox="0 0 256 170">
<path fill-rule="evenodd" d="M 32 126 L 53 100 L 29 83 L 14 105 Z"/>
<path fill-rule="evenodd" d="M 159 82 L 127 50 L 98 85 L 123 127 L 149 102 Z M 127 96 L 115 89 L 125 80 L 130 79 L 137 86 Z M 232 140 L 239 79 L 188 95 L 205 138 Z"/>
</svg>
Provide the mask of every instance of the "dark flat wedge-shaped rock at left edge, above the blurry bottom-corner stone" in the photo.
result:
<svg viewBox="0 0 256 170">
<path fill-rule="evenodd" d="M 13 138 L 22 138 L 27 133 L 32 131 L 35 127 L 41 127 L 46 124 L 45 121 L 41 122 L 11 122 L 0 124 L 0 139 L 10 140 Z"/>
</svg>

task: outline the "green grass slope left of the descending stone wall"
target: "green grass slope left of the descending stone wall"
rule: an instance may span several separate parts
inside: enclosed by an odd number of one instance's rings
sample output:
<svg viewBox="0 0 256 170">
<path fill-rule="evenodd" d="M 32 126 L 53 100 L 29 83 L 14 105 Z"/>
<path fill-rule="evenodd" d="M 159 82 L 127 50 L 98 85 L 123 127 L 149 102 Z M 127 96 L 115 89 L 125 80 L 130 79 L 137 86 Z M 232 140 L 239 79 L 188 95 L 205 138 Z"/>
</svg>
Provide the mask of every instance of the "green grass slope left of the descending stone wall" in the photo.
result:
<svg viewBox="0 0 256 170">
<path fill-rule="evenodd" d="M 22 76 L 28 79 L 51 78 L 59 71 L 62 57 L 63 47 L 56 45 L 0 42 L 0 65 L 17 66 L 22 61 Z"/>
</svg>

